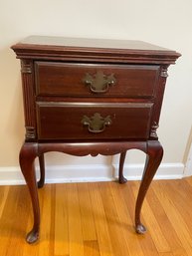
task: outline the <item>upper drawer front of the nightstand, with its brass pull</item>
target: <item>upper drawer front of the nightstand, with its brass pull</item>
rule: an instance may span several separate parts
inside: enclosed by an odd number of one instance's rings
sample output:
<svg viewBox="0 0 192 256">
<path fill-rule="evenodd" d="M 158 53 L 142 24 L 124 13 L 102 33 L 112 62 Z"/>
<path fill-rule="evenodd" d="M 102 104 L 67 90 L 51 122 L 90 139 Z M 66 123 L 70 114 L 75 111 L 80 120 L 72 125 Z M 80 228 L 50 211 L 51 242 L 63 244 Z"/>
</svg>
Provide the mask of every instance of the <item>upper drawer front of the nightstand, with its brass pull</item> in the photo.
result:
<svg viewBox="0 0 192 256">
<path fill-rule="evenodd" d="M 159 66 L 36 62 L 36 95 L 151 98 Z"/>
</svg>

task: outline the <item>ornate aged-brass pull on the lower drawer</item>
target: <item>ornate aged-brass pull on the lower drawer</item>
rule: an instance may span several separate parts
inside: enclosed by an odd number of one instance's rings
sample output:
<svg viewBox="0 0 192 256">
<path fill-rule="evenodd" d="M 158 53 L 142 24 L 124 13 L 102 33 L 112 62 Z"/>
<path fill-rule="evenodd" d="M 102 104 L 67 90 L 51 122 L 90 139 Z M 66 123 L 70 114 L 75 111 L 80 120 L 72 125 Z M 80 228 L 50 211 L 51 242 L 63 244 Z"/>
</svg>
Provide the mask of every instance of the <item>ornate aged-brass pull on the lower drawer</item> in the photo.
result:
<svg viewBox="0 0 192 256">
<path fill-rule="evenodd" d="M 82 124 L 88 126 L 89 131 L 93 133 L 102 132 L 105 127 L 112 124 L 110 116 L 102 118 L 99 113 L 96 113 L 93 117 L 89 118 L 84 116 L 82 119 Z"/>
</svg>

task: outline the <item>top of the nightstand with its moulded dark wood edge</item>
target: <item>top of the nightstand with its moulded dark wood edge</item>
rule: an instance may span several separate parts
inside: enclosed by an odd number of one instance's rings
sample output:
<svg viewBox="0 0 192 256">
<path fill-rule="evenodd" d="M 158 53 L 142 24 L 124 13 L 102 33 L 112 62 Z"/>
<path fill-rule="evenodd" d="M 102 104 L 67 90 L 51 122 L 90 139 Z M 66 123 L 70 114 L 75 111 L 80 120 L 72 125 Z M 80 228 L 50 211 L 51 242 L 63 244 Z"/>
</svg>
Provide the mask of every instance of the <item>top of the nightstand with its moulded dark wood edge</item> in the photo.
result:
<svg viewBox="0 0 192 256">
<path fill-rule="evenodd" d="M 50 58 L 53 60 L 80 60 L 134 63 L 174 64 L 180 56 L 142 41 L 89 38 L 30 36 L 11 47 L 20 59 Z"/>
</svg>

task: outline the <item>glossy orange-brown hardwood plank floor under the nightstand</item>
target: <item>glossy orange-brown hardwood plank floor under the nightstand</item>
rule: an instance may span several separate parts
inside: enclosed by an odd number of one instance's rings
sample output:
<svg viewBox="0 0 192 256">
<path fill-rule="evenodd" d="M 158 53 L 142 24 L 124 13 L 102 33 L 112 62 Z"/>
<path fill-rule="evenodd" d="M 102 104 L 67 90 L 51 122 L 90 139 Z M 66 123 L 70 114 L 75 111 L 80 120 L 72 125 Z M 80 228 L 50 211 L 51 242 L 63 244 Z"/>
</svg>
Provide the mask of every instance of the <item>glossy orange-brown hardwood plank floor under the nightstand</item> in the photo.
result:
<svg viewBox="0 0 192 256">
<path fill-rule="evenodd" d="M 29 245 L 26 186 L 0 186 L 1 256 L 191 256 L 192 177 L 153 181 L 134 232 L 138 181 L 46 184 L 39 190 L 40 241 Z"/>
</svg>

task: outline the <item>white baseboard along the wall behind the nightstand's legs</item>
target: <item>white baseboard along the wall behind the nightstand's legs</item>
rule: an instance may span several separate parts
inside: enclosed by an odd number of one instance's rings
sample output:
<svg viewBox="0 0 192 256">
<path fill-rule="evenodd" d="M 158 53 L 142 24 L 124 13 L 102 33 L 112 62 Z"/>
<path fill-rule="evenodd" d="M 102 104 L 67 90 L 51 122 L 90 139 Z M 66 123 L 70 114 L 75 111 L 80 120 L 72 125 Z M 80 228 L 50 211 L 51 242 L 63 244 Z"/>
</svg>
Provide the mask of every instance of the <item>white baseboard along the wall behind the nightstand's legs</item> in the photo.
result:
<svg viewBox="0 0 192 256">
<path fill-rule="evenodd" d="M 162 163 L 155 179 L 178 179 L 183 177 L 184 164 Z M 124 176 L 128 180 L 140 180 L 143 164 L 125 164 Z M 37 176 L 39 176 L 37 171 Z M 50 165 L 46 166 L 46 183 L 111 181 L 117 178 L 118 166 L 104 164 Z M 0 185 L 25 184 L 19 167 L 0 167 Z"/>
</svg>

